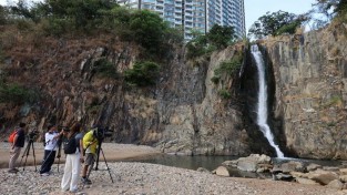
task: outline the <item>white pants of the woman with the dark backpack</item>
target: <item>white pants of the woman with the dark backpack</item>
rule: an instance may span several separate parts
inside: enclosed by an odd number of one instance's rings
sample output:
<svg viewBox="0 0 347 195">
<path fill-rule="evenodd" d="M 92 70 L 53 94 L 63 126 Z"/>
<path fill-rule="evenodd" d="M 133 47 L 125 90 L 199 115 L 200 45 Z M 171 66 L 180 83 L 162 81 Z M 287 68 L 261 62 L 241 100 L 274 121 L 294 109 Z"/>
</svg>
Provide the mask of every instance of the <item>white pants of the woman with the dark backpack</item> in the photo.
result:
<svg viewBox="0 0 347 195">
<path fill-rule="evenodd" d="M 79 188 L 80 172 L 81 172 L 81 154 L 68 154 L 64 167 L 64 175 L 61 181 L 62 191 L 76 191 Z"/>
</svg>

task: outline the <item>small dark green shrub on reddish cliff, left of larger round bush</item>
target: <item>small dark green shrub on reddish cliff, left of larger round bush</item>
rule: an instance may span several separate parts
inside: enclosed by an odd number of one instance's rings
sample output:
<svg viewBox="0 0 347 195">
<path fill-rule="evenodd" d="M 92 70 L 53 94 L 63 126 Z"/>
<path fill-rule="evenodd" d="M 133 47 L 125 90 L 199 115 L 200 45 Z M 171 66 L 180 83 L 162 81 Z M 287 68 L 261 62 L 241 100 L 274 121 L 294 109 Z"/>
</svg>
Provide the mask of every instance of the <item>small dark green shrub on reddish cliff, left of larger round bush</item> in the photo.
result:
<svg viewBox="0 0 347 195">
<path fill-rule="evenodd" d="M 101 76 L 101 78 L 110 78 L 110 79 L 119 79 L 120 78 L 113 63 L 111 63 L 110 61 L 108 61 L 104 58 L 95 61 L 94 71 L 95 71 L 95 74 Z"/>
</svg>

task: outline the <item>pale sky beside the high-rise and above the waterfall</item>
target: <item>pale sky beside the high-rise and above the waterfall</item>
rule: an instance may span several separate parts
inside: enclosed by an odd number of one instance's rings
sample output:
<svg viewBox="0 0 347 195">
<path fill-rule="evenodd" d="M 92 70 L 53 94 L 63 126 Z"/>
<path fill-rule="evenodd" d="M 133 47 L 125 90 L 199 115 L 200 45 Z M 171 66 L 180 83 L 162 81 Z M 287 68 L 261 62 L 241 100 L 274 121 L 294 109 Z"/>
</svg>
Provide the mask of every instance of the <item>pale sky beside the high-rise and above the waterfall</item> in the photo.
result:
<svg viewBox="0 0 347 195">
<path fill-rule="evenodd" d="M 17 1 L 17 0 L 10 0 Z M 244 0 L 245 2 L 245 17 L 246 17 L 246 30 L 267 11 L 276 12 L 278 10 L 289 13 L 304 13 L 310 10 L 312 4 L 316 0 Z M 0 0 L 0 4 L 7 4 L 7 0 Z"/>
</svg>

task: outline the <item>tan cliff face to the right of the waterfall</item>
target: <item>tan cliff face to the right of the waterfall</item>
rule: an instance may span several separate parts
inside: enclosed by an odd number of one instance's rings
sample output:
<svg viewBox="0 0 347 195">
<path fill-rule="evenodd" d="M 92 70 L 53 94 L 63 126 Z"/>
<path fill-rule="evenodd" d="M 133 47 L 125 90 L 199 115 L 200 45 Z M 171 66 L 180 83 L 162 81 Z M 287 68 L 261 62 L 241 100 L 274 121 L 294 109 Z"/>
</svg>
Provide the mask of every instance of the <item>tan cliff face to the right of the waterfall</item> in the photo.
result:
<svg viewBox="0 0 347 195">
<path fill-rule="evenodd" d="M 274 127 L 292 155 L 347 158 L 346 34 L 345 25 L 331 25 L 264 43 L 274 69 Z"/>
</svg>

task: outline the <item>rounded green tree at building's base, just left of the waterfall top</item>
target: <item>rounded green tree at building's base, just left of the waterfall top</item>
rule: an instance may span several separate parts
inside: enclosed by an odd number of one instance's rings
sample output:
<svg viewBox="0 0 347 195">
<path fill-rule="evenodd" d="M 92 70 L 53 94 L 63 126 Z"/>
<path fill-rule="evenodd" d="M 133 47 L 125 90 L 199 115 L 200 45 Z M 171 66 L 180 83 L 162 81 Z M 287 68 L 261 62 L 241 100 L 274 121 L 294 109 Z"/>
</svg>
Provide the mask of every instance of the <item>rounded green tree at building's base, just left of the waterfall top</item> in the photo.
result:
<svg viewBox="0 0 347 195">
<path fill-rule="evenodd" d="M 235 31 L 233 27 L 222 27 L 214 24 L 207 33 L 207 41 L 217 49 L 224 49 L 235 38 Z"/>
</svg>

